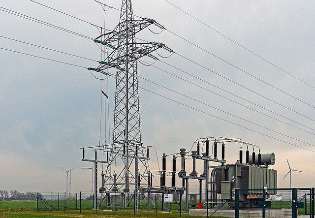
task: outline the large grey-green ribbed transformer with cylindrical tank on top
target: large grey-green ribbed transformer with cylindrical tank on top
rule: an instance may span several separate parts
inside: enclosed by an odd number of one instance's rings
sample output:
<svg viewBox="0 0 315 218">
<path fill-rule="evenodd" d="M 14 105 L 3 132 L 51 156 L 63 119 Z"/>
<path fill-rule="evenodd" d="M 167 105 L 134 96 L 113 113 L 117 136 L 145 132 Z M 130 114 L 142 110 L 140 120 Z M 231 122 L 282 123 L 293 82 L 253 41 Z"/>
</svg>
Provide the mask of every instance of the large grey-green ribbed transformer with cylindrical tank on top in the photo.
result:
<svg viewBox="0 0 315 218">
<path fill-rule="evenodd" d="M 255 155 L 258 159 L 258 156 Z M 277 170 L 269 169 L 268 165 L 274 165 L 275 154 L 261 154 L 261 165 L 252 164 L 252 156 L 248 163 L 240 163 L 218 166 L 211 173 L 211 200 L 217 200 L 218 194 L 226 200 L 230 207 L 234 207 L 235 188 L 263 189 L 277 188 Z M 276 194 L 276 191 L 266 191 L 266 197 Z M 240 207 L 256 206 L 262 200 L 262 191 L 241 191 L 239 196 Z"/>
</svg>

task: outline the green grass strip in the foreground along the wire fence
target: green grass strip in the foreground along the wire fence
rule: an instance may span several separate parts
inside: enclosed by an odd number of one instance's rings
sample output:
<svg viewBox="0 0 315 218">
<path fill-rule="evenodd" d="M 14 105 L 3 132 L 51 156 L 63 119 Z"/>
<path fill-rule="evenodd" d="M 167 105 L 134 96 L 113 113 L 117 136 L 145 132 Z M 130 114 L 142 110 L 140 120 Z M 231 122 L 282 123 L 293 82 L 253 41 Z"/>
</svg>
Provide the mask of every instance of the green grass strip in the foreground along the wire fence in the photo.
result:
<svg viewBox="0 0 315 218">
<path fill-rule="evenodd" d="M 47 201 L 50 203 L 50 200 Z M 59 202 L 59 211 L 58 201 L 52 201 L 52 212 L 50 212 L 50 206 L 38 201 L 38 211 L 36 211 L 36 201 L 0 201 L 0 217 L 2 218 L 94 218 L 94 217 L 106 217 L 106 218 L 129 218 L 129 217 L 138 217 L 138 218 L 154 218 L 156 217 L 156 210 L 151 206 L 151 212 L 146 212 L 146 203 L 147 201 L 142 200 L 140 204 L 139 214 L 134 215 L 132 208 L 133 204 L 130 205 L 128 210 L 116 211 L 114 208 L 111 210 L 100 209 L 97 211 L 92 210 L 93 201 L 92 200 L 82 200 L 81 201 L 81 213 L 80 201 L 67 200 L 66 201 L 66 212 L 64 212 L 64 201 Z M 185 205 L 185 202 L 183 202 Z M 271 202 L 272 208 L 290 208 L 291 202 L 282 202 L 280 205 L 279 201 Z M 56 208 L 56 209 L 54 209 Z M 77 209 L 77 210 L 76 210 Z M 179 205 L 174 203 L 171 204 L 171 213 L 161 212 L 161 203 L 158 203 L 158 217 L 159 218 L 179 218 Z M 310 211 L 310 205 L 308 205 L 308 211 Z M 299 215 L 304 215 L 305 209 L 299 209 Z M 183 218 L 188 218 L 187 213 L 182 213 Z M 197 218 L 197 217 L 195 217 Z"/>
</svg>

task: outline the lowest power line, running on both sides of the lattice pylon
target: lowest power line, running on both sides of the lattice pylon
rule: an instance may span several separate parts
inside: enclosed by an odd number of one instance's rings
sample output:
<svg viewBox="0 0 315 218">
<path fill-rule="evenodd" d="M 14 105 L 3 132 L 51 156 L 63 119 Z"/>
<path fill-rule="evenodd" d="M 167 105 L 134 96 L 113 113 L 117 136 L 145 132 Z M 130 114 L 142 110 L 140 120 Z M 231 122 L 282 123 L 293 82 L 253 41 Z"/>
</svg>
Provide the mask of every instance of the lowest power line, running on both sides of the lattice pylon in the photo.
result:
<svg viewBox="0 0 315 218">
<path fill-rule="evenodd" d="M 56 61 L 56 60 L 53 60 L 53 59 L 48 59 L 48 58 L 44 58 L 44 57 L 40 57 L 40 56 L 35 56 L 35 55 L 31 55 L 31 54 L 23 53 L 23 52 L 18 52 L 18 51 L 14 51 L 14 50 L 10 50 L 10 49 L 5 49 L 5 48 L 1 48 L 1 47 L 0 47 L 0 49 L 6 50 L 6 51 L 15 52 L 15 53 L 19 53 L 19 54 L 23 54 L 23 55 L 28 55 L 28 56 L 32 56 L 32 57 L 36 57 L 36 58 L 40 58 L 40 59 L 44 59 L 44 60 L 48 60 L 48 61 L 60 62 L 60 63 L 63 63 L 63 64 L 68 64 L 68 65 L 72 65 L 72 66 L 77 66 L 77 67 L 81 67 L 81 68 L 86 68 L 86 67 L 84 67 L 84 66 L 80 66 L 80 65 L 76 65 L 76 64 L 72 64 L 72 63 L 67 63 L 67 62 Z M 143 89 L 143 90 L 145 90 L 145 91 L 147 91 L 147 92 L 154 93 L 154 92 L 149 91 L 149 90 L 147 90 L 147 89 L 144 89 L 144 88 L 142 88 L 142 87 L 139 87 L 139 88 L 140 88 L 140 89 Z M 202 113 L 207 114 L 207 115 L 209 115 L 209 116 L 215 117 L 215 118 L 220 119 L 220 120 L 222 120 L 222 121 L 225 121 L 225 122 L 227 122 L 227 123 L 230 123 L 230 124 L 233 124 L 233 125 L 240 126 L 240 127 L 242 127 L 242 128 L 245 128 L 245 129 L 251 130 L 251 131 L 253 131 L 253 132 L 256 132 L 256 133 L 259 133 L 259 134 L 261 134 L 261 135 L 264 135 L 264 136 L 267 136 L 267 137 L 273 138 L 273 139 L 275 139 L 275 140 L 278 140 L 278 141 L 281 141 L 281 142 L 284 142 L 284 143 L 287 143 L 287 144 L 293 145 L 293 146 L 298 147 L 298 148 L 301 148 L 301 149 L 305 149 L 305 150 L 308 150 L 308 151 L 311 151 L 311 152 L 315 152 L 315 151 L 313 151 L 313 150 L 310 150 L 310 149 L 307 149 L 307 148 L 304 148 L 304 147 L 298 146 L 298 145 L 293 144 L 293 143 L 290 143 L 290 142 L 286 142 L 286 141 L 281 140 L 281 139 L 278 139 L 278 138 L 276 138 L 276 137 L 273 137 L 273 136 L 267 135 L 267 134 L 265 134 L 265 133 L 262 133 L 262 132 L 259 132 L 259 131 L 256 131 L 256 130 L 253 130 L 253 129 L 248 128 L 248 127 L 245 127 L 245 126 L 243 126 L 243 125 L 239 125 L 239 124 L 233 123 L 233 122 L 231 122 L 231 121 L 228 121 L 228 120 L 225 120 L 225 119 L 223 119 L 223 118 L 217 117 L 217 116 L 212 115 L 212 114 L 210 114 L 210 113 L 207 113 L 207 112 L 201 111 L 201 110 L 199 110 L 199 109 L 197 109 L 197 108 L 191 107 L 191 106 L 189 106 L 189 105 L 187 105 L 187 104 L 181 103 L 181 102 L 179 102 L 179 101 L 176 101 L 176 100 L 174 100 L 174 99 L 168 98 L 168 97 L 163 96 L 163 95 L 161 95 L 161 94 L 158 94 L 158 93 L 154 93 L 154 94 L 157 94 L 157 95 L 159 95 L 159 96 L 161 96 L 161 97 L 164 97 L 164 98 L 166 98 L 166 99 L 169 99 L 169 100 L 171 100 L 171 101 L 177 102 L 177 103 L 179 103 L 179 104 L 181 104 L 181 105 L 184 105 L 184 106 L 186 106 L 186 107 L 189 107 L 189 108 L 191 108 L 191 109 L 194 109 L 194 110 L 197 110 L 197 111 L 199 111 L 199 112 L 202 112 Z M 295 138 L 294 138 L 294 139 L 295 139 Z M 297 139 L 295 139 L 295 140 L 297 140 Z"/>
</svg>

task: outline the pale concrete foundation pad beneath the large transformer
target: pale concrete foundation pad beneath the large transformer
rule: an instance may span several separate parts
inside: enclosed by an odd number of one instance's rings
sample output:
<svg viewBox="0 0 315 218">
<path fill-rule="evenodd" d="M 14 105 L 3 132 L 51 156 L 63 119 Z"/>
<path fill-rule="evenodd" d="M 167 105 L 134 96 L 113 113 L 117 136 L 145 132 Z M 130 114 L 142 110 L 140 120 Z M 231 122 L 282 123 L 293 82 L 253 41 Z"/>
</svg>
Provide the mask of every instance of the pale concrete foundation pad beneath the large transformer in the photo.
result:
<svg viewBox="0 0 315 218">
<path fill-rule="evenodd" d="M 216 210 L 209 209 L 208 216 L 212 215 Z M 189 216 L 199 216 L 199 217 L 207 217 L 206 209 L 191 209 L 189 210 Z M 212 216 L 214 217 L 235 217 L 234 210 L 218 210 Z M 262 210 L 240 210 L 239 211 L 240 218 L 252 218 L 262 217 Z M 284 218 L 291 217 L 291 209 L 267 209 L 266 210 L 266 218 Z"/>
</svg>

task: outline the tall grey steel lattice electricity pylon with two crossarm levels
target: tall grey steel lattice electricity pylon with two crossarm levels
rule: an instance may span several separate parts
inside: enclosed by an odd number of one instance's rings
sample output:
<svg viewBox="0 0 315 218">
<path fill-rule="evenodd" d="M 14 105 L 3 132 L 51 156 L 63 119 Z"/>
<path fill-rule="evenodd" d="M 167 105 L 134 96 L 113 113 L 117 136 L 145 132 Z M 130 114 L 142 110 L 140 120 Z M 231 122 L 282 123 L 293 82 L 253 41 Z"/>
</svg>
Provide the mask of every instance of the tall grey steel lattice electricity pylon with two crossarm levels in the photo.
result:
<svg viewBox="0 0 315 218">
<path fill-rule="evenodd" d="M 161 29 L 164 28 L 153 19 L 139 18 L 135 20 L 131 0 L 123 0 L 119 24 L 113 31 L 95 38 L 96 43 L 101 43 L 113 51 L 105 60 L 99 62 L 100 65 L 97 68 L 89 68 L 104 74 L 109 68 L 116 69 L 113 144 L 109 149 L 104 185 L 109 187 L 109 191 L 114 188 L 115 191 L 125 196 L 123 207 L 126 206 L 126 196 L 129 196 L 125 193 L 129 193 L 130 188 L 133 189 L 136 193 L 134 196 L 136 211 L 138 211 L 140 185 L 138 162 L 143 167 L 142 178 L 146 178 L 144 175 L 148 173 L 148 154 L 141 141 L 137 60 L 144 56 L 157 60 L 151 53 L 159 48 L 173 52 L 162 43 L 136 43 L 135 34 L 152 24 Z M 99 38 L 104 39 L 99 40 Z M 134 171 L 130 169 L 133 161 Z M 117 186 L 114 187 L 114 174 L 116 174 L 118 162 L 122 162 L 123 169 L 118 173 L 115 181 Z M 132 183 L 134 188 L 129 187 Z"/>
</svg>

